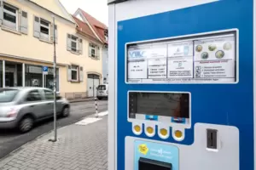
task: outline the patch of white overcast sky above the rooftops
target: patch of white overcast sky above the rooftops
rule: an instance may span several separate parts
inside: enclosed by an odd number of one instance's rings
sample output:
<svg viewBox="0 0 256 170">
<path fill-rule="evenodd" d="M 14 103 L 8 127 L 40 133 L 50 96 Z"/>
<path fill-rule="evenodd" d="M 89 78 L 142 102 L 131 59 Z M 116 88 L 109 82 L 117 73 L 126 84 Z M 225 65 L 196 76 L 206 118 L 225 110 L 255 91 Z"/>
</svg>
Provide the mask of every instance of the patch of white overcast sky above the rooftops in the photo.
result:
<svg viewBox="0 0 256 170">
<path fill-rule="evenodd" d="M 78 8 L 92 15 L 108 26 L 108 4 L 107 0 L 60 0 L 67 8 L 68 13 L 74 14 Z"/>
</svg>

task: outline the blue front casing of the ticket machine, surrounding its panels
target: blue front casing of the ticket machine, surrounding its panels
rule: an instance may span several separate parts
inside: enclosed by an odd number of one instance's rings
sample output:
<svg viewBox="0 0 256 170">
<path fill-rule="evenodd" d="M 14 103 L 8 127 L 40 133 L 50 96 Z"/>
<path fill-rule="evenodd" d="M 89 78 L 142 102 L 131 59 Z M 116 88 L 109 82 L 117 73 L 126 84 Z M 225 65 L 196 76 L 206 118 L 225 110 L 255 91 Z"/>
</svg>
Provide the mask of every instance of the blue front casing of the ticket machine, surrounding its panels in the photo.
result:
<svg viewBox="0 0 256 170">
<path fill-rule="evenodd" d="M 143 10 L 143 9 L 142 9 Z M 121 28 L 121 29 L 120 29 Z M 125 44 L 203 32 L 239 31 L 238 82 L 234 84 L 127 84 L 125 83 Z M 125 169 L 125 137 L 132 133 L 127 121 L 127 92 L 186 91 L 191 93 L 191 128 L 185 139 L 144 139 L 193 144 L 194 125 L 204 122 L 235 126 L 240 133 L 240 169 L 253 170 L 253 0 L 223 0 L 171 12 L 118 22 L 117 63 L 117 166 Z M 124 133 L 127 132 L 127 133 Z"/>
</svg>

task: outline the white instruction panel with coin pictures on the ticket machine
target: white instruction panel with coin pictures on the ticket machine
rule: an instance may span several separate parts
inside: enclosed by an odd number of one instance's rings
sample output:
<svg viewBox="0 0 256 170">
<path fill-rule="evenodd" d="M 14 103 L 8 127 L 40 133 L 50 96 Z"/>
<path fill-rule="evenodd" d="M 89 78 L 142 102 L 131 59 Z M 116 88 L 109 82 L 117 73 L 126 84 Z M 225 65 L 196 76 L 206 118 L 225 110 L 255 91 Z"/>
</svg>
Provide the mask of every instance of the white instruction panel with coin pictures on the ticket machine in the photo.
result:
<svg viewBox="0 0 256 170">
<path fill-rule="evenodd" d="M 236 37 L 228 34 L 127 47 L 127 82 L 236 82 Z"/>
</svg>

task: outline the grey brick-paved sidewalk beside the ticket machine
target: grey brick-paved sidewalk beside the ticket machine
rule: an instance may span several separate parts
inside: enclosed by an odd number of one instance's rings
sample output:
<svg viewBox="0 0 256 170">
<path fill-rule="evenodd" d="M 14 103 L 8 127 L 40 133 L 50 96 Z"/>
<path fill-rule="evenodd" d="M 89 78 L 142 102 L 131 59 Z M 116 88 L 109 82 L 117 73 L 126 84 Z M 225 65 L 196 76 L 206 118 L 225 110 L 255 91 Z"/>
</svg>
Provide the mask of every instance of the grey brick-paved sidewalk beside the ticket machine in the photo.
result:
<svg viewBox="0 0 256 170">
<path fill-rule="evenodd" d="M 90 116 L 90 119 L 93 116 Z M 0 160 L 1 170 L 107 170 L 108 116 L 58 129 L 58 142 L 48 133 Z"/>
</svg>

